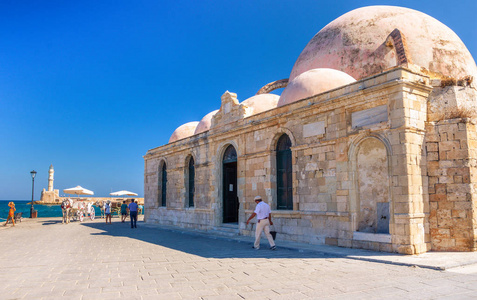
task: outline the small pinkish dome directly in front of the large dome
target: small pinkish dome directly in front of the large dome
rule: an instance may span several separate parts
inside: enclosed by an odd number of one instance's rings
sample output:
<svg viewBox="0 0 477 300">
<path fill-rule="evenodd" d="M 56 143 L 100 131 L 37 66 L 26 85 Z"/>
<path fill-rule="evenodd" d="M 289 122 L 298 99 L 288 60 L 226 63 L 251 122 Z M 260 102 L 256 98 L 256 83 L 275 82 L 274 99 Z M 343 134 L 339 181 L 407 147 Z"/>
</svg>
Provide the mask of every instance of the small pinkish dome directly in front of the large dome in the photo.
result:
<svg viewBox="0 0 477 300">
<path fill-rule="evenodd" d="M 333 69 L 312 69 L 298 75 L 288 83 L 278 101 L 283 106 L 317 95 L 356 80 L 348 74 Z"/>
</svg>

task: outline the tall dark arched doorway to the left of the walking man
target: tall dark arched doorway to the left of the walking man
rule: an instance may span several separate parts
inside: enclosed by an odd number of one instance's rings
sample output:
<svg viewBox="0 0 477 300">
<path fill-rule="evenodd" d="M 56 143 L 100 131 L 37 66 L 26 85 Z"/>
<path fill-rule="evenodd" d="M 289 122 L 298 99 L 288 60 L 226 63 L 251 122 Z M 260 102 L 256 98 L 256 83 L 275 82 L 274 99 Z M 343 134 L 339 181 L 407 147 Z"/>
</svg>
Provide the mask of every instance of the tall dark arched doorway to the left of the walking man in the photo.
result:
<svg viewBox="0 0 477 300">
<path fill-rule="evenodd" d="M 237 152 L 230 145 L 223 158 L 224 223 L 238 222 L 239 202 L 237 198 Z"/>
</svg>

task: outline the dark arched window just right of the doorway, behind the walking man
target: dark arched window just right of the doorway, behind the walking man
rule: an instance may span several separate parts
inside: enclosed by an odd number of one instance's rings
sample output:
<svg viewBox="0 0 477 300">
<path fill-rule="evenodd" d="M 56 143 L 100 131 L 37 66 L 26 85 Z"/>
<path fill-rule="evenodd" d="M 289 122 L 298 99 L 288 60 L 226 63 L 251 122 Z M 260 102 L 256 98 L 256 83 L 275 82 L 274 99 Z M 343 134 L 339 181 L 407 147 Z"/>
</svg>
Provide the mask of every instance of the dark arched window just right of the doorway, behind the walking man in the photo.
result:
<svg viewBox="0 0 477 300">
<path fill-rule="evenodd" d="M 291 140 L 284 134 L 277 142 L 277 209 L 293 209 Z"/>
</svg>

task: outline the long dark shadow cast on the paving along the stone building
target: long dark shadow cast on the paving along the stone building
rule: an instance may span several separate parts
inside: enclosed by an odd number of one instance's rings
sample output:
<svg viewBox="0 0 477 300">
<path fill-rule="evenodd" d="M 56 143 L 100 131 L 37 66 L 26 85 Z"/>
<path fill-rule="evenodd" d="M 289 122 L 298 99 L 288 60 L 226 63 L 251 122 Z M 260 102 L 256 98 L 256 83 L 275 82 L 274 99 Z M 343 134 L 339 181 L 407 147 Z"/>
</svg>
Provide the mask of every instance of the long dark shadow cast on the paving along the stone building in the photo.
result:
<svg viewBox="0 0 477 300">
<path fill-rule="evenodd" d="M 340 247 L 324 246 L 327 248 L 326 253 L 319 252 L 319 246 L 313 251 L 309 250 L 311 245 L 307 245 L 308 249 L 300 250 L 286 248 L 286 243 L 293 244 L 294 248 L 297 245 L 294 242 L 282 242 L 277 238 L 277 251 L 269 250 L 268 241 L 264 235 L 262 235 L 262 246 L 260 250 L 252 249 L 252 239 L 244 238 L 243 240 L 236 240 L 227 237 L 216 237 L 201 232 L 183 232 L 180 230 L 171 230 L 158 227 L 144 227 L 143 221 L 138 222 L 138 228 L 131 229 L 130 223 L 113 223 L 112 225 L 106 225 L 104 223 L 82 223 L 82 226 L 97 229 L 101 232 L 92 233 L 96 236 L 113 236 L 129 238 L 125 242 L 137 243 L 138 248 L 141 247 L 141 242 L 149 243 L 158 246 L 158 253 L 161 252 L 161 248 L 173 249 L 181 251 L 191 255 L 197 255 L 204 258 L 317 258 L 317 259 L 329 259 L 346 257 L 353 258 L 356 253 L 359 252 L 360 256 L 388 256 L 390 253 L 378 253 L 366 250 L 347 249 Z M 336 254 L 330 253 L 330 249 L 336 250 Z M 167 249 L 165 249 L 167 251 Z M 369 254 L 367 254 L 369 252 Z"/>
</svg>

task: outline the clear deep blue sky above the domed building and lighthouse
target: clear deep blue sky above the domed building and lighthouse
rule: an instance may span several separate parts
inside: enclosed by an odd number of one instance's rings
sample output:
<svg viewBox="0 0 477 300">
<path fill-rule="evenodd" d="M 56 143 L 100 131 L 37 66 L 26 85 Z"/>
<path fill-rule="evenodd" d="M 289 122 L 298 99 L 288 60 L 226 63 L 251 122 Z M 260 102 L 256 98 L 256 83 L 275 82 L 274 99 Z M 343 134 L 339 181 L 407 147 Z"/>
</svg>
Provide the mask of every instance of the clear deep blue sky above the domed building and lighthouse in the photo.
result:
<svg viewBox="0 0 477 300">
<path fill-rule="evenodd" d="M 288 78 L 308 41 L 367 5 L 417 9 L 477 57 L 477 1 L 0 1 L 0 199 L 143 195 L 142 156 L 178 126 Z"/>
</svg>

